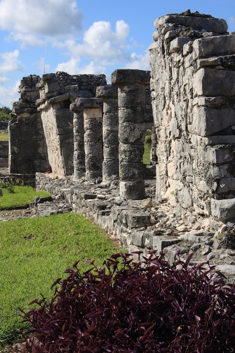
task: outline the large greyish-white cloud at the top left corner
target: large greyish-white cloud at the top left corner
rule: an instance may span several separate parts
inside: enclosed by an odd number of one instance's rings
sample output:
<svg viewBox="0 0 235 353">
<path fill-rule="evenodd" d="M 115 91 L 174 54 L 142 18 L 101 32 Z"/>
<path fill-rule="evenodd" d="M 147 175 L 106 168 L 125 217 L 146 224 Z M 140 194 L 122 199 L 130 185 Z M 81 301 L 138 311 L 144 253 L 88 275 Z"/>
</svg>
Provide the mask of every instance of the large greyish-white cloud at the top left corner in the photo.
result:
<svg viewBox="0 0 235 353">
<path fill-rule="evenodd" d="M 75 0 L 1 0 L 0 28 L 18 33 L 64 36 L 81 30 Z"/>
</svg>

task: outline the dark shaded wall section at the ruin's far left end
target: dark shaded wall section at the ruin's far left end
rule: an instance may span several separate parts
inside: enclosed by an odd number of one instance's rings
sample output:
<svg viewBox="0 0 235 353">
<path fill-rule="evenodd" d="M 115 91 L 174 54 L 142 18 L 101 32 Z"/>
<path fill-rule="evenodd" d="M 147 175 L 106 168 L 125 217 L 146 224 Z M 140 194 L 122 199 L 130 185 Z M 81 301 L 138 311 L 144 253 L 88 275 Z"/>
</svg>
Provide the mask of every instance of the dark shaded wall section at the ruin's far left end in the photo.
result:
<svg viewBox="0 0 235 353">
<path fill-rule="evenodd" d="M 48 165 L 48 155 L 40 113 L 35 106 L 39 98 L 39 76 L 23 77 L 20 99 L 13 103 L 9 123 L 9 169 L 11 173 L 34 173 Z"/>
</svg>

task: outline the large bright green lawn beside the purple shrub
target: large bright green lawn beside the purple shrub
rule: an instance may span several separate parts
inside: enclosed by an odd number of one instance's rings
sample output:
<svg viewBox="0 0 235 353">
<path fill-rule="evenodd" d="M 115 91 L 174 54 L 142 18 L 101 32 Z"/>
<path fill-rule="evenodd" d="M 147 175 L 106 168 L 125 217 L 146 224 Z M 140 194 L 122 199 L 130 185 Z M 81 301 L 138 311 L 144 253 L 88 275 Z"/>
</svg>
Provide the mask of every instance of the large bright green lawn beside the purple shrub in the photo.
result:
<svg viewBox="0 0 235 353">
<path fill-rule="evenodd" d="M 42 293 L 52 298 L 52 283 L 80 260 L 81 272 L 120 252 L 100 228 L 82 215 L 66 213 L 0 223 L 0 346 L 17 339 L 24 328 L 17 308 Z"/>
</svg>

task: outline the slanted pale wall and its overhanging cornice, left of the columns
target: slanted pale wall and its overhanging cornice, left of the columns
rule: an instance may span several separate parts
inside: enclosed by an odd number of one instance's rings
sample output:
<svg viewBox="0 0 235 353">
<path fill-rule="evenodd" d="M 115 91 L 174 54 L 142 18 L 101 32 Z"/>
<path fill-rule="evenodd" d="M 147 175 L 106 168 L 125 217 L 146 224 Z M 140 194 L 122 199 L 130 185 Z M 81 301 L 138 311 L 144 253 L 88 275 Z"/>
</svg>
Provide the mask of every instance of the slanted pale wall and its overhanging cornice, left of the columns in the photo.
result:
<svg viewBox="0 0 235 353">
<path fill-rule="evenodd" d="M 82 122 L 78 112 L 74 116 L 69 109 L 70 103 L 75 102 L 78 97 L 95 97 L 98 84 L 106 84 L 104 75 L 71 76 L 58 72 L 43 75 L 37 85 L 40 99 L 36 101 L 36 105 L 41 112 L 49 164 L 53 172 L 61 177 L 72 175 L 74 159 L 78 157 L 81 161 L 82 158 L 77 155 L 78 144 L 81 146 L 82 142 L 77 140 L 74 156 L 74 130 L 77 134 Z M 82 125 L 81 134 L 83 134 Z M 76 163 L 76 177 L 77 173 Z"/>
</svg>

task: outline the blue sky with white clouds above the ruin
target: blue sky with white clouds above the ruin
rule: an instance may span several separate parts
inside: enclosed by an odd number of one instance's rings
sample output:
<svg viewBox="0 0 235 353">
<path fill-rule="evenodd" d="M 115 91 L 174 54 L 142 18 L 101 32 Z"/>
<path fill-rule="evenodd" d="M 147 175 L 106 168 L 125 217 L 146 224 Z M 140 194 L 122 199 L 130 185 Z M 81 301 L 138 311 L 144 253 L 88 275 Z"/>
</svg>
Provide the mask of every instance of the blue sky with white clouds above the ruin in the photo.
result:
<svg viewBox="0 0 235 353">
<path fill-rule="evenodd" d="M 235 31 L 235 0 L 0 0 L 0 106 L 31 74 L 104 73 L 110 83 L 115 69 L 149 70 L 154 20 L 187 9 Z"/>
</svg>

